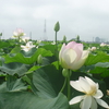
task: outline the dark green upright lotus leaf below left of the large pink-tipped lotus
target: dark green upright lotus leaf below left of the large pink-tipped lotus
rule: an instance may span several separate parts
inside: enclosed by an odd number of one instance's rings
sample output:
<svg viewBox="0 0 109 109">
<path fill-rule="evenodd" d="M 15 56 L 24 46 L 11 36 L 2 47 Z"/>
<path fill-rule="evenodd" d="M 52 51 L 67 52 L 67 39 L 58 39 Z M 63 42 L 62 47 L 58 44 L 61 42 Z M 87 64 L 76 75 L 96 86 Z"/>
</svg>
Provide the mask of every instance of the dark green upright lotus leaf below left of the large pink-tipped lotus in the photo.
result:
<svg viewBox="0 0 109 109">
<path fill-rule="evenodd" d="M 46 65 L 33 74 L 33 84 L 46 98 L 56 97 L 61 90 L 64 77 L 53 65 Z"/>
</svg>

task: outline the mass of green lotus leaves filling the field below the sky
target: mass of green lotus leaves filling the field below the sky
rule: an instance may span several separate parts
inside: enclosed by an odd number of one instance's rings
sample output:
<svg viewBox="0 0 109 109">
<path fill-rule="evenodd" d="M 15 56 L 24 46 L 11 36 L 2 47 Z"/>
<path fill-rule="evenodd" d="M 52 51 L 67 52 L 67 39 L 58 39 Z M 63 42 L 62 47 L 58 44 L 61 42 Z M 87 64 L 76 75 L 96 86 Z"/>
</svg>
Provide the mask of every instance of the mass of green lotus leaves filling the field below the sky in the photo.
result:
<svg viewBox="0 0 109 109">
<path fill-rule="evenodd" d="M 60 24 L 57 22 L 55 32 L 59 29 Z M 58 40 L 57 46 L 51 45 L 52 41 L 32 41 L 38 48 L 34 47 L 26 52 L 21 48 L 25 44 L 20 40 L 0 40 L 0 109 L 80 109 L 80 104 L 69 105 L 69 85 L 64 84 L 69 70 L 64 71 L 58 60 L 62 44 L 69 43 L 66 37 L 62 41 Z M 81 43 L 80 36 L 75 41 Z M 88 76 L 99 84 L 104 93 L 101 99 L 108 102 L 106 90 L 109 88 L 109 47 L 100 47 L 99 44 L 83 45 L 85 50 L 92 47 L 97 49 L 90 51 L 80 70 L 70 72 L 70 81 Z M 84 95 L 70 88 L 70 99 Z"/>
</svg>

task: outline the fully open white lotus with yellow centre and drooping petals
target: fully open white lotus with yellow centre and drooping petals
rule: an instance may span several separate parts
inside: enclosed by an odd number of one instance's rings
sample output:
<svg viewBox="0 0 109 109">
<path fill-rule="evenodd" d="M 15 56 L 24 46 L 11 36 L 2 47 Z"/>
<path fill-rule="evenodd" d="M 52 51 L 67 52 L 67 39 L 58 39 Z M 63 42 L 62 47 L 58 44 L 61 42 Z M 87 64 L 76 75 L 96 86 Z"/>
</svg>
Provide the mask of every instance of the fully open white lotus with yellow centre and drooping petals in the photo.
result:
<svg viewBox="0 0 109 109">
<path fill-rule="evenodd" d="M 95 83 L 90 78 L 80 77 L 78 81 L 71 81 L 71 86 L 85 95 L 76 96 L 70 100 L 70 105 L 81 101 L 81 109 L 97 109 L 97 104 L 104 108 L 109 108 L 109 106 L 101 100 L 102 92 L 99 89 L 98 83 Z"/>
</svg>

